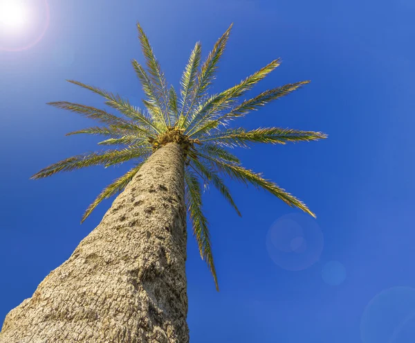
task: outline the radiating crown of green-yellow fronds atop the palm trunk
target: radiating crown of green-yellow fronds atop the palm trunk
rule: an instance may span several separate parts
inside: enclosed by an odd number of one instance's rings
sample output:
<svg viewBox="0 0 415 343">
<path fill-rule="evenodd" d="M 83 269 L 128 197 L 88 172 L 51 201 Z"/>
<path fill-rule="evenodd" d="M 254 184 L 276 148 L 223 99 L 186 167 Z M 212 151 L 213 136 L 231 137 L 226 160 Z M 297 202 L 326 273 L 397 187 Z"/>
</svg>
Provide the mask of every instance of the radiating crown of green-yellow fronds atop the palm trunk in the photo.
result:
<svg viewBox="0 0 415 343">
<path fill-rule="evenodd" d="M 118 148 L 64 159 L 40 170 L 32 177 L 33 179 L 39 179 L 60 171 L 97 165 L 107 167 L 133 161 L 135 166 L 104 188 L 95 201 L 86 209 L 82 217 L 83 222 L 102 200 L 121 192 L 127 186 L 152 152 L 167 143 L 178 143 L 182 146 L 186 159 L 185 194 L 193 233 L 199 245 L 201 257 L 208 263 L 212 272 L 216 288 L 218 288 L 218 285 L 208 220 L 202 211 L 202 184 L 205 186 L 213 184 L 230 202 L 239 216 L 241 213 L 234 204 L 228 188 L 221 178 L 222 175 L 228 176 L 230 179 L 237 179 L 245 184 L 253 184 L 257 188 L 264 188 L 286 204 L 296 206 L 311 214 L 311 216 L 315 216 L 302 201 L 284 191 L 277 184 L 264 179 L 260 173 L 243 168 L 239 159 L 226 148 L 237 146 L 248 148 L 250 143 L 284 144 L 290 141 L 316 141 L 317 139 L 326 138 L 326 135 L 322 132 L 279 127 L 260 127 L 255 130 L 245 130 L 243 127 L 228 127 L 228 123 L 235 118 L 245 116 L 249 112 L 266 105 L 271 100 L 286 96 L 308 83 L 308 81 L 296 82 L 269 89 L 249 100 L 239 100 L 257 82 L 264 79 L 279 66 L 280 61 L 273 60 L 234 87 L 218 94 L 208 95 L 209 87 L 214 80 L 214 74 L 228 41 L 231 28 L 232 25 L 219 38 L 202 64 L 201 44 L 196 43 L 183 72 L 180 96 L 178 97 L 174 87 L 167 87 L 165 76 L 160 70 L 160 64 L 154 57 L 149 40 L 138 24 L 140 43 L 147 68 L 136 60 L 133 60 L 132 64 L 147 97 L 142 100 L 143 109 L 131 105 L 128 100 L 117 94 L 73 80 L 69 80 L 69 82 L 100 94 L 105 99 L 105 104 L 118 110 L 122 116 L 115 116 L 102 109 L 77 103 L 64 101 L 49 103 L 49 105 L 68 109 L 104 124 L 70 132 L 67 135 L 99 134 L 107 137 L 107 139 L 98 144 Z"/>
</svg>

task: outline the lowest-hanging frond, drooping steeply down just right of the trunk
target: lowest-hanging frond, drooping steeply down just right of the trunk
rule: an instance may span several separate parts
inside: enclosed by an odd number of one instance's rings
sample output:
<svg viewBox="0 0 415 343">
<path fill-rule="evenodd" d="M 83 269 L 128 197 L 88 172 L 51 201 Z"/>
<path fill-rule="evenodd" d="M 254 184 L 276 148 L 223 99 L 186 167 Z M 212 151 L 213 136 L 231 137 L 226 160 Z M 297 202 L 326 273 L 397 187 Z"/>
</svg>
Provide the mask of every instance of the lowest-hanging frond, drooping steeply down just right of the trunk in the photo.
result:
<svg viewBox="0 0 415 343">
<path fill-rule="evenodd" d="M 185 169 L 185 191 L 187 211 L 192 222 L 193 234 L 199 246 L 201 258 L 208 263 L 210 272 L 212 273 L 216 290 L 219 291 L 218 279 L 214 267 L 212 244 L 210 243 L 210 234 L 208 228 L 208 220 L 203 215 L 202 211 L 202 193 L 201 185 L 198 177 L 190 170 Z"/>
</svg>

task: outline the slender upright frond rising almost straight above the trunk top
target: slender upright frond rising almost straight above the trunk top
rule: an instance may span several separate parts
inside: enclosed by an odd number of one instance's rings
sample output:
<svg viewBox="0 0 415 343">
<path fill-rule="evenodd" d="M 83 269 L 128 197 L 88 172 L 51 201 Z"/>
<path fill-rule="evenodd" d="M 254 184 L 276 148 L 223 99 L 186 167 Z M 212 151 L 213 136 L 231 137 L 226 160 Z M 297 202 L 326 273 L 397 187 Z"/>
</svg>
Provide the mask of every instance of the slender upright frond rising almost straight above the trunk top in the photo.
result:
<svg viewBox="0 0 415 343">
<path fill-rule="evenodd" d="M 196 43 L 192 53 L 190 54 L 189 61 L 186 64 L 185 71 L 183 71 L 183 76 L 181 78 L 181 112 L 179 115 L 178 127 L 183 127 L 187 119 L 187 115 L 184 116 L 185 107 L 189 101 L 190 95 L 194 91 L 194 86 L 196 85 L 197 70 L 201 62 L 201 53 L 202 46 L 199 42 Z"/>
</svg>

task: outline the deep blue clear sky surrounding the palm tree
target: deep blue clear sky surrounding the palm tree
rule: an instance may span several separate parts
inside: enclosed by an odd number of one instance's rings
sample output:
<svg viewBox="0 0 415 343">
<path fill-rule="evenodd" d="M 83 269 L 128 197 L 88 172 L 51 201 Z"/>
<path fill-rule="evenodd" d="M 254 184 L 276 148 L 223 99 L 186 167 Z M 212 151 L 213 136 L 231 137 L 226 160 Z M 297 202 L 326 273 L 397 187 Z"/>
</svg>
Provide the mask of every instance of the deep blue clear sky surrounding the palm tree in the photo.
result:
<svg viewBox="0 0 415 343">
<path fill-rule="evenodd" d="M 44 18 L 43 1 L 32 3 Z M 48 164 L 94 150 L 98 141 L 64 137 L 91 122 L 46 103 L 100 106 L 99 98 L 65 81 L 75 79 L 140 105 L 130 64 L 142 61 L 136 21 L 174 86 L 194 43 L 202 42 L 205 56 L 234 22 L 214 91 L 274 58 L 282 65 L 252 94 L 311 80 L 239 124 L 317 130 L 329 139 L 237 151 L 245 166 L 304 200 L 317 220 L 240 184 L 229 183 L 242 218 L 213 189 L 205 194 L 221 292 L 190 235 L 191 342 L 412 342 L 413 1 L 73 0 L 49 6 L 50 23 L 38 44 L 0 50 L 0 323 L 98 225 L 111 201 L 83 225 L 80 216 L 128 169 L 29 180 Z M 31 39 L 42 25 L 36 30 Z"/>
</svg>

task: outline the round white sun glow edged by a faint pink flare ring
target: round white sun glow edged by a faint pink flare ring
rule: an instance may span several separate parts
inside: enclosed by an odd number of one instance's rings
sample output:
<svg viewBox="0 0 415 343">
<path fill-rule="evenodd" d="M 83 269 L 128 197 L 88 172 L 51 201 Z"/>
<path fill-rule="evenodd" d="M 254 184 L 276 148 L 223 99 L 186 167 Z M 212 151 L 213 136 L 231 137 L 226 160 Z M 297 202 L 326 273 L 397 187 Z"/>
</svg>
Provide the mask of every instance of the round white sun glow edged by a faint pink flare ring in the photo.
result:
<svg viewBox="0 0 415 343">
<path fill-rule="evenodd" d="M 0 0 L 0 51 L 23 51 L 39 43 L 49 26 L 46 0 Z"/>
</svg>

